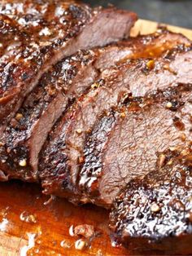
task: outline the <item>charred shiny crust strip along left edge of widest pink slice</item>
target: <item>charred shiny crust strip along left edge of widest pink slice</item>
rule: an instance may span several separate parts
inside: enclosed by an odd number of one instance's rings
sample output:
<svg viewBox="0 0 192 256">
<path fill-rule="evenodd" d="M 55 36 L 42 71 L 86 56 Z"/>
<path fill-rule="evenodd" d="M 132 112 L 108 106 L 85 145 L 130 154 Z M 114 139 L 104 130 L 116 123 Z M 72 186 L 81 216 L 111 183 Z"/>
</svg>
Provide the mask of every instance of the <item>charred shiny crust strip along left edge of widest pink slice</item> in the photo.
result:
<svg viewBox="0 0 192 256">
<path fill-rule="evenodd" d="M 116 122 L 120 118 L 124 118 L 125 110 L 121 107 L 119 109 L 111 109 L 107 113 L 104 112 L 85 139 L 84 162 L 77 179 L 82 202 L 93 201 L 94 203 L 95 197 L 98 197 L 97 204 L 100 201 L 97 180 L 102 174 L 103 150 Z"/>
</svg>

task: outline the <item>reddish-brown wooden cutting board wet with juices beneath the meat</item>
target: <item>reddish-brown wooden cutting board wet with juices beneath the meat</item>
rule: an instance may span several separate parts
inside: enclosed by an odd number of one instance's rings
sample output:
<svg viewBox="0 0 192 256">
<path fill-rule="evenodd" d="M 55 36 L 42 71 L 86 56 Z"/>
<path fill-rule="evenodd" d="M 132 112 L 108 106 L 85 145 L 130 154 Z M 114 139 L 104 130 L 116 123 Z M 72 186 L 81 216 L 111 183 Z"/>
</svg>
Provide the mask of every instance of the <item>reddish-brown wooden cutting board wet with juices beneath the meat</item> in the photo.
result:
<svg viewBox="0 0 192 256">
<path fill-rule="evenodd" d="M 153 33 L 155 22 L 138 20 L 132 35 Z M 192 39 L 192 30 L 168 26 Z M 113 248 L 107 229 L 108 212 L 93 205 L 76 207 L 68 201 L 41 195 L 34 184 L 0 183 L 0 256 L 16 255 L 131 255 Z M 96 236 L 85 250 L 75 249 L 79 239 L 70 236 L 69 228 L 93 225 Z M 149 253 L 150 254 L 150 253 Z"/>
</svg>

